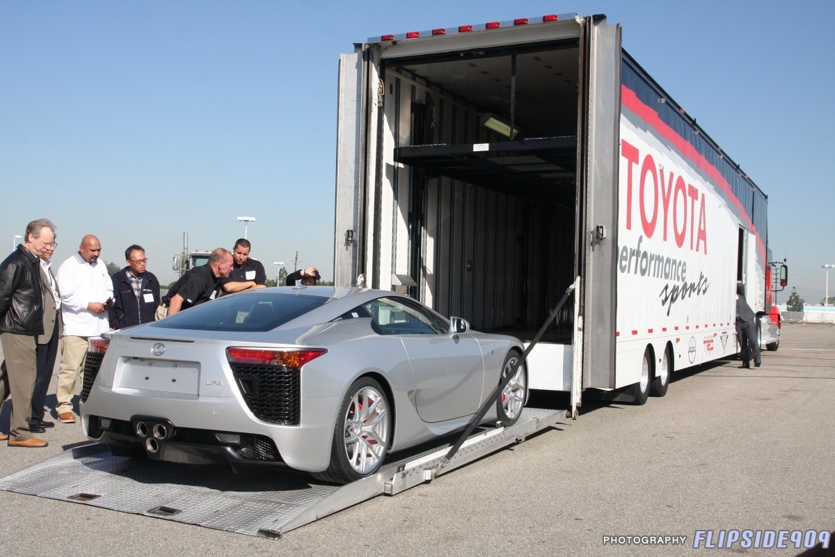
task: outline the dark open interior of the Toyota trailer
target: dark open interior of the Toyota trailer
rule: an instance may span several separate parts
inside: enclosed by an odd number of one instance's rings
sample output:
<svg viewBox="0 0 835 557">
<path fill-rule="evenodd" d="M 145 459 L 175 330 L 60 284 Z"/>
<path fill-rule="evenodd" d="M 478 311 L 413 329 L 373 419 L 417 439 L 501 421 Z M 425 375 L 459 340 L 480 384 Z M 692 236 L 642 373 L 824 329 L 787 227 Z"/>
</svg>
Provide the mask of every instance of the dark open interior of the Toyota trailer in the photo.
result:
<svg viewBox="0 0 835 557">
<path fill-rule="evenodd" d="M 580 50 L 383 58 L 412 293 L 474 329 L 530 341 L 579 272 Z M 569 299 L 543 340 L 570 343 L 572 315 Z"/>
</svg>

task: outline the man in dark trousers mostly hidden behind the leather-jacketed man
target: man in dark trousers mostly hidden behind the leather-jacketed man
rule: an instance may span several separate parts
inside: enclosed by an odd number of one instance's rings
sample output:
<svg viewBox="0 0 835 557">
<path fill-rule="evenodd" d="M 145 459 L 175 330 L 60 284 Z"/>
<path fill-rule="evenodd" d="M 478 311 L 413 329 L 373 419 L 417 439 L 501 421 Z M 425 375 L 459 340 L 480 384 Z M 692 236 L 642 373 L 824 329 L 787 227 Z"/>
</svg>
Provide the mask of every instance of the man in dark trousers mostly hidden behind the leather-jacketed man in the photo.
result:
<svg viewBox="0 0 835 557">
<path fill-rule="evenodd" d="M 55 368 L 55 357 L 58 355 L 58 340 L 63 334 L 63 320 L 61 318 L 61 292 L 58 290 L 58 279 L 55 278 L 50 266 L 52 256 L 58 243 L 47 244 L 41 251 L 41 283 L 43 288 L 43 335 L 38 335 L 38 346 L 35 347 L 35 360 L 38 372 L 35 376 L 35 388 L 32 392 L 32 416 L 29 417 L 29 431 L 43 433 L 46 428 L 54 428 L 54 422 L 44 418 L 46 413 L 43 405 L 46 403 L 49 382 L 52 380 Z"/>
</svg>

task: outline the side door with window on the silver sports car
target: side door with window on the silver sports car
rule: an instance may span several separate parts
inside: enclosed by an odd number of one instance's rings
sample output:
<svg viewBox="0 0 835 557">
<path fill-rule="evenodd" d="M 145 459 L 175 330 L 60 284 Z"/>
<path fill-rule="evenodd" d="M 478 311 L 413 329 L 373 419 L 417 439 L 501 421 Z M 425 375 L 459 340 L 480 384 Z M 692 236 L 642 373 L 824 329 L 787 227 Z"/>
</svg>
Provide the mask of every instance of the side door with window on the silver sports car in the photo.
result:
<svg viewBox="0 0 835 557">
<path fill-rule="evenodd" d="M 448 334 L 448 322 L 417 302 L 377 298 L 365 305 L 383 334 L 400 338 L 417 390 L 421 419 L 438 423 L 478 410 L 484 387 L 484 360 L 469 334 Z"/>
</svg>

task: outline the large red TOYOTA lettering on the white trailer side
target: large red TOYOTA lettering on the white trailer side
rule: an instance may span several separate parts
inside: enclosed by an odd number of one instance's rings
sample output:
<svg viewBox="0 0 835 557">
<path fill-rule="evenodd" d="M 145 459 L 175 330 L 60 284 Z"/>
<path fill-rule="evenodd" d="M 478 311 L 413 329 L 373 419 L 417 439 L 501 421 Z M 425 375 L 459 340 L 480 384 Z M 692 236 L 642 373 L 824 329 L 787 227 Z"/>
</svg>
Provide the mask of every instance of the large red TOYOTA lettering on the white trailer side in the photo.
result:
<svg viewBox="0 0 835 557">
<path fill-rule="evenodd" d="M 638 148 L 625 139 L 620 140 L 620 155 L 626 161 L 626 230 L 632 230 L 632 199 L 637 190 L 640 226 L 647 240 L 660 227 L 661 240 L 672 237 L 676 246 L 707 255 L 705 193 L 687 184 L 683 176 L 665 171 L 652 154 L 641 159 Z"/>
</svg>

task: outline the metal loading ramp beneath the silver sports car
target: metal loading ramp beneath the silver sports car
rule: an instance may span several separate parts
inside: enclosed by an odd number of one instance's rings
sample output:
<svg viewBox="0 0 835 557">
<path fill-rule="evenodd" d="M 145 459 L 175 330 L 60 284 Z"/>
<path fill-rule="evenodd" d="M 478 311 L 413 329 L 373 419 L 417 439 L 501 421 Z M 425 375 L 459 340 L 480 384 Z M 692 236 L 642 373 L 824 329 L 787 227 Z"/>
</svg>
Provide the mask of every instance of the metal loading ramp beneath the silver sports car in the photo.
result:
<svg viewBox="0 0 835 557">
<path fill-rule="evenodd" d="M 524 408 L 509 428 L 473 433 L 438 473 L 470 463 L 564 419 L 565 410 Z M 454 441 L 454 438 L 453 438 Z M 239 534 L 279 538 L 328 514 L 431 481 L 452 442 L 394 453 L 380 472 L 347 485 L 321 484 L 281 470 L 235 474 L 226 466 L 190 466 L 114 457 L 106 445 L 73 448 L 0 479 L 0 489 L 176 520 Z M 404 452 L 405 453 L 405 452 Z"/>
</svg>

